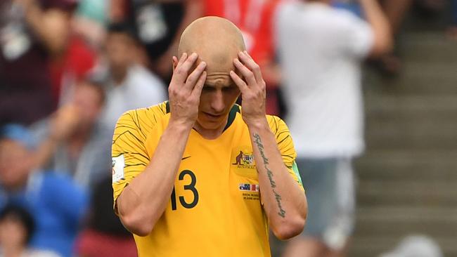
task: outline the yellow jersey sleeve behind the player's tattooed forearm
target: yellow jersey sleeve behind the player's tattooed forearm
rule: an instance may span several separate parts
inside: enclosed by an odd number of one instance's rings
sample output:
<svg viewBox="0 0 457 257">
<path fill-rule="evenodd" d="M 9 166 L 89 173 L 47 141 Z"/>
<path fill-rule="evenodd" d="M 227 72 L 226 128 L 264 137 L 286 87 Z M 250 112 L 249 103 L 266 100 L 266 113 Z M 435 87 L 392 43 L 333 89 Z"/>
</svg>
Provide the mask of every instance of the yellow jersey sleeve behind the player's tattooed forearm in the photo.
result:
<svg viewBox="0 0 457 257">
<path fill-rule="evenodd" d="M 292 176 L 303 190 L 302 178 L 300 178 L 300 173 L 298 172 L 297 164 L 295 163 L 297 152 L 295 152 L 294 143 L 292 141 L 292 136 L 290 136 L 288 126 L 281 118 L 276 116 L 271 116 L 269 124 L 275 135 L 278 150 L 281 152 L 281 157 L 283 158 L 285 166 L 288 168 L 290 176 Z"/>
</svg>

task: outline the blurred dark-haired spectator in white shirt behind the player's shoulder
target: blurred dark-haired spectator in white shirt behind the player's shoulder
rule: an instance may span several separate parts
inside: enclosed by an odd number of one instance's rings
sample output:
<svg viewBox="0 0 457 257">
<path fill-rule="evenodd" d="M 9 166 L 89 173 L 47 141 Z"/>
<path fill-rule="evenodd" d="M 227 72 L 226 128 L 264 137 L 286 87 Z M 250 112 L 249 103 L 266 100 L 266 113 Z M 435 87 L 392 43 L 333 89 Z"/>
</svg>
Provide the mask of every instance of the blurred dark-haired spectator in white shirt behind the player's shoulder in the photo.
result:
<svg viewBox="0 0 457 257">
<path fill-rule="evenodd" d="M 110 133 L 127 110 L 149 107 L 167 99 L 162 81 L 135 63 L 136 44 L 134 32 L 127 23 L 113 23 L 108 27 L 105 42 L 107 100 L 103 121 Z"/>
</svg>

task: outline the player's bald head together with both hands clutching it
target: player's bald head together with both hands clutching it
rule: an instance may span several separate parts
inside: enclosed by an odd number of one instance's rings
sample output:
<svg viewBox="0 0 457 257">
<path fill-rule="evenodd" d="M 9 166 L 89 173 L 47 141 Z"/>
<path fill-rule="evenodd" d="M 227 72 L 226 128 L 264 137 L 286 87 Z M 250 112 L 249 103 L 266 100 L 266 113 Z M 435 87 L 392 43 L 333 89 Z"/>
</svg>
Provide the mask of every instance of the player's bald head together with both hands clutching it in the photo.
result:
<svg viewBox="0 0 457 257">
<path fill-rule="evenodd" d="M 195 20 L 181 36 L 179 54 L 179 60 L 173 58 L 169 86 L 171 121 L 223 128 L 240 92 L 243 120 L 249 124 L 265 119 L 265 82 L 233 23 L 218 17 Z"/>
</svg>

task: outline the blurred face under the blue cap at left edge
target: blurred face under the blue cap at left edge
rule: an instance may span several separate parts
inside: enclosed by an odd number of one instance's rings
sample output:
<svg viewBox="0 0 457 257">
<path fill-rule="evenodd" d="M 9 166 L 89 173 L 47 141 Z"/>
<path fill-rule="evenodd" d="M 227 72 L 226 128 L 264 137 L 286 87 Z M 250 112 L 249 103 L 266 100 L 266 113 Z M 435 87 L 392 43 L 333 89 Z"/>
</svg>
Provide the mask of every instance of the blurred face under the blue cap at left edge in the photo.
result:
<svg viewBox="0 0 457 257">
<path fill-rule="evenodd" d="M 6 187 L 24 184 L 32 169 L 32 157 L 24 145 L 14 140 L 0 140 L 0 183 Z"/>
</svg>

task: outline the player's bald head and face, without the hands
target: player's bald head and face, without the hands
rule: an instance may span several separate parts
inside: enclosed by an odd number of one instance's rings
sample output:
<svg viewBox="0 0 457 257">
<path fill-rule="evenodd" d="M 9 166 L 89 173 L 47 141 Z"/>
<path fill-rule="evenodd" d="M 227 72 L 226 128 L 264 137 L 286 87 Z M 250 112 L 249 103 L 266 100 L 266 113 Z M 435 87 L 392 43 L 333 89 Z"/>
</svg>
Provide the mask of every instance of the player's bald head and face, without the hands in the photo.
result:
<svg viewBox="0 0 457 257">
<path fill-rule="evenodd" d="M 240 89 L 231 78 L 233 70 L 237 74 L 233 61 L 241 51 L 245 51 L 245 42 L 240 29 L 224 18 L 208 16 L 192 22 L 179 41 L 179 56 L 183 53 L 198 55 L 191 73 L 205 62 L 206 79 L 200 93 L 198 117 L 195 129 L 202 135 L 215 138 L 227 124 L 228 112 L 236 102 Z M 175 62 L 176 61 L 176 62 Z M 174 59 L 174 65 L 177 60 Z"/>
</svg>

